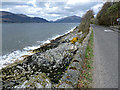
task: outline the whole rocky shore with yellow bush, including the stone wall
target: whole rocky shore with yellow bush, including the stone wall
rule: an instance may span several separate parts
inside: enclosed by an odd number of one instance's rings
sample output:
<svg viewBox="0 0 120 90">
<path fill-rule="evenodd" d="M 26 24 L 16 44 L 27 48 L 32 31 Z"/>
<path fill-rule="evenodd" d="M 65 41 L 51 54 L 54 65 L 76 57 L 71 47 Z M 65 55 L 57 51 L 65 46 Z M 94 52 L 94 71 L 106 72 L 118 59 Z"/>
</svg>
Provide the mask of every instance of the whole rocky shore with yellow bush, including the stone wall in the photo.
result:
<svg viewBox="0 0 120 90">
<path fill-rule="evenodd" d="M 33 50 L 35 54 L 0 70 L 2 88 L 75 88 L 91 29 L 72 32 Z"/>
</svg>

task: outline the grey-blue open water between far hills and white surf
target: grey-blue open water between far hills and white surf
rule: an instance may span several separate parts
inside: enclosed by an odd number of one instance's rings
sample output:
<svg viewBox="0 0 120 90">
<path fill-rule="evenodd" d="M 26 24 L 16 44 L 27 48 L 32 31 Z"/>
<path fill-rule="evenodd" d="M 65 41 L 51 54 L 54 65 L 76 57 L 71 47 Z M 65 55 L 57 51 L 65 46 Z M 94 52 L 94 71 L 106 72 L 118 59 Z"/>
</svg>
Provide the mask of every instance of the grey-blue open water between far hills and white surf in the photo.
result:
<svg viewBox="0 0 120 90">
<path fill-rule="evenodd" d="M 9 23 L 2 24 L 2 54 L 37 46 L 64 34 L 79 23 Z"/>
</svg>

